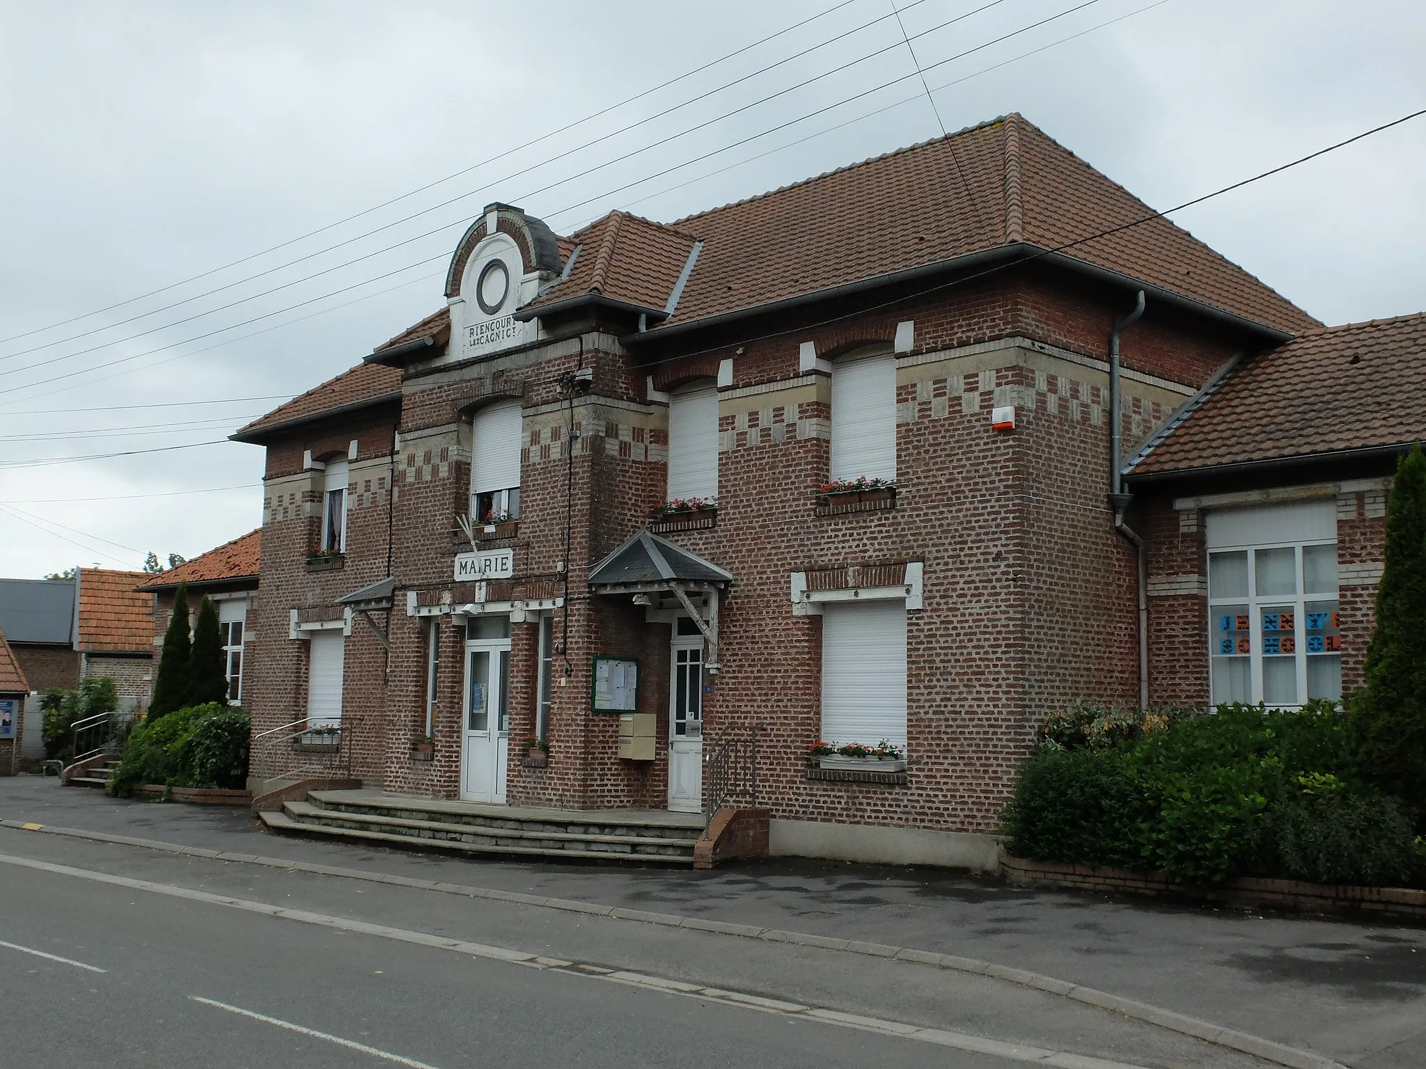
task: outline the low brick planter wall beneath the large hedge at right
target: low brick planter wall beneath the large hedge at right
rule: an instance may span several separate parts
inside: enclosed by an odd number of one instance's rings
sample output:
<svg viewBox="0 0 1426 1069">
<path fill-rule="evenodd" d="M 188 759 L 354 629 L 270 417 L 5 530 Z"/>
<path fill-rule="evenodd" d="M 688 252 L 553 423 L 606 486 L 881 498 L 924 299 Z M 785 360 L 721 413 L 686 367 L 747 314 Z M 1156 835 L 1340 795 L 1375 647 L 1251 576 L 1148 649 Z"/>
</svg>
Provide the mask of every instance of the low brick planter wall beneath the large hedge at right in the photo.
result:
<svg viewBox="0 0 1426 1069">
<path fill-rule="evenodd" d="M 1060 861 L 1025 861 L 1001 854 L 1001 872 L 1017 887 L 1051 887 L 1147 898 L 1214 902 L 1236 909 L 1281 909 L 1302 914 L 1336 914 L 1392 918 L 1426 924 L 1426 891 L 1406 887 L 1355 887 L 1305 884 L 1296 879 L 1229 879 L 1222 887 L 1179 884 L 1162 872 L 1135 872 L 1108 865 L 1075 865 Z"/>
</svg>

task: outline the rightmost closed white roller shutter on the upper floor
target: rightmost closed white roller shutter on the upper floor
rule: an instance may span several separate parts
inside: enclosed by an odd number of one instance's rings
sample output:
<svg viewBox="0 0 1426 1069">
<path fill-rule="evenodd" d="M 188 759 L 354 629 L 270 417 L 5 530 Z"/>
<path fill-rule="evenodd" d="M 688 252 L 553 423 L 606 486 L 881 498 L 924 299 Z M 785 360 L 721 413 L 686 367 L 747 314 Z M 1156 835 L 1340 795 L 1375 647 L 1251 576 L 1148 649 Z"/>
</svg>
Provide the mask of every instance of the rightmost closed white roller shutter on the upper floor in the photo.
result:
<svg viewBox="0 0 1426 1069">
<path fill-rule="evenodd" d="M 896 479 L 896 356 L 831 369 L 831 477 Z"/>
</svg>

